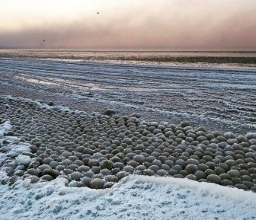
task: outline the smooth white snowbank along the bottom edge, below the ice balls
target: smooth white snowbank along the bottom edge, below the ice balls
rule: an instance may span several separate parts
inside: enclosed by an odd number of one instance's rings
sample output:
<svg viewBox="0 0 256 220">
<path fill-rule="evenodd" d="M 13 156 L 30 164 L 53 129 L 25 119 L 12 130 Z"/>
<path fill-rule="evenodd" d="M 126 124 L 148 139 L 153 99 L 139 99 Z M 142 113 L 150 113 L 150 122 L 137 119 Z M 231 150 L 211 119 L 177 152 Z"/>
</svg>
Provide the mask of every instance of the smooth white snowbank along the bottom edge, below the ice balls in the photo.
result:
<svg viewBox="0 0 256 220">
<path fill-rule="evenodd" d="M 254 219 L 256 193 L 131 175 L 108 190 L 24 180 L 0 187 L 1 219 Z"/>
</svg>

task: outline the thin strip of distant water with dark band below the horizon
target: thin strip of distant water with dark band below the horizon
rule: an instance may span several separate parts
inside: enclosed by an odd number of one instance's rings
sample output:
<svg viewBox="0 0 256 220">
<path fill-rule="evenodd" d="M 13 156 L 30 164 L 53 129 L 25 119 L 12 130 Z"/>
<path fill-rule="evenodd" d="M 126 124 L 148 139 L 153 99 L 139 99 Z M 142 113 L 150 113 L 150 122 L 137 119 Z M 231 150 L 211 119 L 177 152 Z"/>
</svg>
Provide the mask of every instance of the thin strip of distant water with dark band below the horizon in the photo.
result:
<svg viewBox="0 0 256 220">
<path fill-rule="evenodd" d="M 131 65 L 255 68 L 256 52 L 0 50 L 0 57 L 30 57 Z"/>
</svg>

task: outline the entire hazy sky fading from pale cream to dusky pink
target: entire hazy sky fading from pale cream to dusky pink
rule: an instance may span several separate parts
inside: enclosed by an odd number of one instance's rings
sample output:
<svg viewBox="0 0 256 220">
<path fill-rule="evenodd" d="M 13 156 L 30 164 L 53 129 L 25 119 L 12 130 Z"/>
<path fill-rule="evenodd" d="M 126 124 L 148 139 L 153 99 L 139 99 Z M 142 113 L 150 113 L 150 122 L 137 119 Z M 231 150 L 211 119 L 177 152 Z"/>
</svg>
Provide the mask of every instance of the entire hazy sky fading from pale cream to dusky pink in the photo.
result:
<svg viewBox="0 0 256 220">
<path fill-rule="evenodd" d="M 253 50 L 255 11 L 256 0 L 0 0 L 0 48 Z"/>
</svg>

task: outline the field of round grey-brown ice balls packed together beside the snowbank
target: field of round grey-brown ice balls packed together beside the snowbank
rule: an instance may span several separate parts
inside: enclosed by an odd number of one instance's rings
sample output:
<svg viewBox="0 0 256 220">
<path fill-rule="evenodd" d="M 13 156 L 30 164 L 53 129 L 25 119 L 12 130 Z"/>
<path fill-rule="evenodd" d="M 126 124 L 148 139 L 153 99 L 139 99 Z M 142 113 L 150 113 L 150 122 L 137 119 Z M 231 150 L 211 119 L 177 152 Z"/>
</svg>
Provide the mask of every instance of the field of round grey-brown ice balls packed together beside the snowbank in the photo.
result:
<svg viewBox="0 0 256 220">
<path fill-rule="evenodd" d="M 8 136 L 31 144 L 30 153 L 2 164 L 14 179 L 37 183 L 62 176 L 72 187 L 102 189 L 129 174 L 142 174 L 256 192 L 254 133 L 236 136 L 194 129 L 186 122 L 145 122 L 136 113 L 118 116 L 114 110 L 88 115 L 11 98 L 0 99 L 3 119 L 13 125 Z"/>
</svg>

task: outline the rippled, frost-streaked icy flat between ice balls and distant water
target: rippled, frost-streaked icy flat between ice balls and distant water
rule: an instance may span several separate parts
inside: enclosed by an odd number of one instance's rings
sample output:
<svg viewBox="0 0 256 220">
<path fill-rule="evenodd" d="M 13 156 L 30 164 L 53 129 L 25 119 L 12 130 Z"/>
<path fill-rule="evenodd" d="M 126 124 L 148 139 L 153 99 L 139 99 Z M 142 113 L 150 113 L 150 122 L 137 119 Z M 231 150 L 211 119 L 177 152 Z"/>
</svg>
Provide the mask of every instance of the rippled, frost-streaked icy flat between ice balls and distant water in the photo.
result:
<svg viewBox="0 0 256 220">
<path fill-rule="evenodd" d="M 147 120 L 253 132 L 255 69 L 116 65 L 0 58 L 1 94 L 102 112 L 134 110 Z M 46 68 L 47 67 L 47 68 Z M 43 95 L 42 95 L 43 94 Z"/>
</svg>

